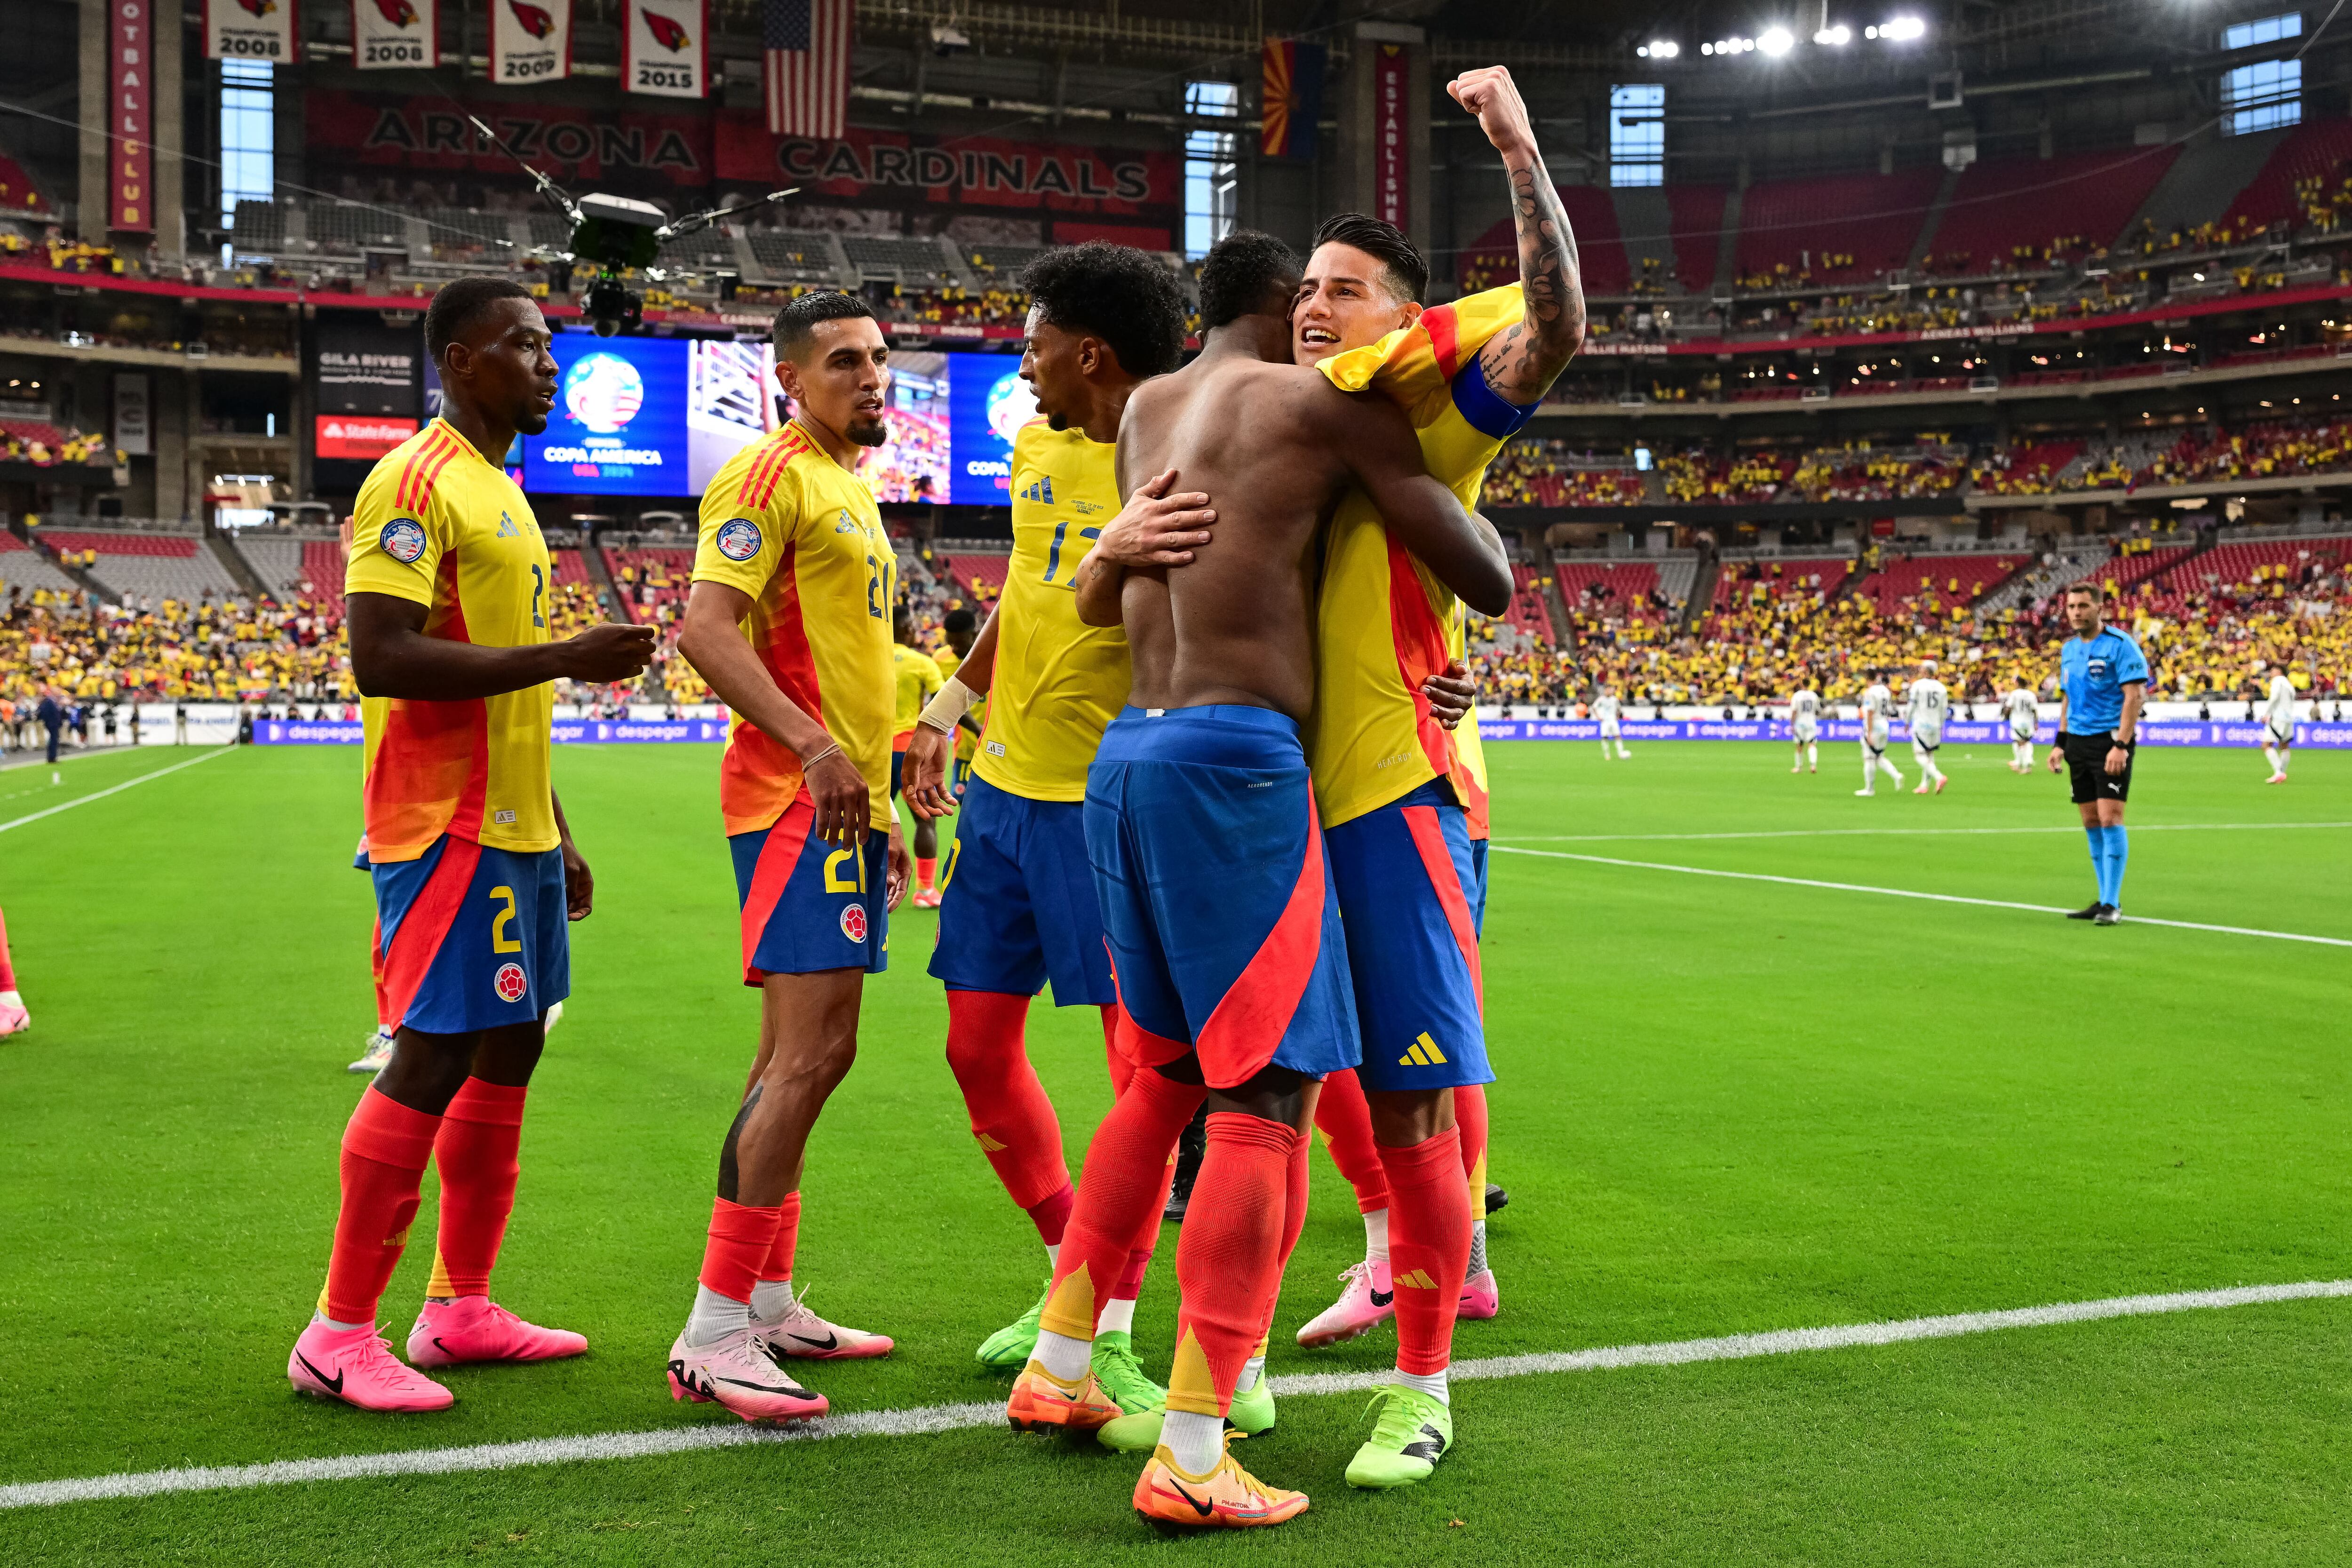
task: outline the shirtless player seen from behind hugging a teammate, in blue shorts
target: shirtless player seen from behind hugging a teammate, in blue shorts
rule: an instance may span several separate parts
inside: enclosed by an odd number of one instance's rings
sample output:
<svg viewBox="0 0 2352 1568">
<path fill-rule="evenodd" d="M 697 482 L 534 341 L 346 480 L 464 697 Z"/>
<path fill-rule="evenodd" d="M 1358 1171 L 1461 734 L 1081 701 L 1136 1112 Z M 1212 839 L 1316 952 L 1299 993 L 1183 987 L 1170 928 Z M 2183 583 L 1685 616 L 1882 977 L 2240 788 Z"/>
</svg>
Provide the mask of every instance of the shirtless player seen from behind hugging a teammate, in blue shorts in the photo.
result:
<svg viewBox="0 0 2352 1568">
<path fill-rule="evenodd" d="M 1209 1105 L 1209 1154 L 1176 1248 L 1183 1314 L 1162 1441 L 1136 1512 L 1178 1526 L 1270 1526 L 1308 1507 L 1223 1450 L 1242 1366 L 1265 1335 L 1305 1222 L 1312 1086 L 1357 1063 L 1355 999 L 1298 738 L 1315 698 L 1312 545 L 1352 484 L 1446 588 L 1501 614 L 1510 564 L 1491 527 L 1432 480 L 1402 409 L 1289 364 L 1298 261 L 1268 235 L 1202 268 L 1202 355 L 1129 397 L 1120 487 L 1218 498 L 1190 567 L 1080 576 L 1080 616 L 1120 621 L 1127 710 L 1087 776 L 1087 853 L 1138 1072 L 1087 1150 L 1016 1429 L 1120 1415 L 1089 1371 L 1096 1302 L 1160 1197 L 1176 1135 Z"/>
</svg>

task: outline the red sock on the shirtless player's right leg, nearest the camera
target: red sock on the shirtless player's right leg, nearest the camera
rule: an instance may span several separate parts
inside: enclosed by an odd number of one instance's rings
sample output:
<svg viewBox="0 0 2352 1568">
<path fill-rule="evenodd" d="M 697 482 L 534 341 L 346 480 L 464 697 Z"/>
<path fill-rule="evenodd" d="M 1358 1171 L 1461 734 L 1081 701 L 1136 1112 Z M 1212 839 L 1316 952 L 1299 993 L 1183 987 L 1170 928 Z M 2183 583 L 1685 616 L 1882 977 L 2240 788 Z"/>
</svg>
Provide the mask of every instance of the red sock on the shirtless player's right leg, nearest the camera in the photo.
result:
<svg viewBox="0 0 2352 1568">
<path fill-rule="evenodd" d="M 1232 1408 L 1232 1385 L 1258 1349 L 1282 1288 L 1298 1147 L 1301 1135 L 1279 1121 L 1240 1112 L 1209 1117 L 1209 1152 L 1176 1241 L 1183 1314 L 1169 1413 L 1221 1418 Z"/>
</svg>

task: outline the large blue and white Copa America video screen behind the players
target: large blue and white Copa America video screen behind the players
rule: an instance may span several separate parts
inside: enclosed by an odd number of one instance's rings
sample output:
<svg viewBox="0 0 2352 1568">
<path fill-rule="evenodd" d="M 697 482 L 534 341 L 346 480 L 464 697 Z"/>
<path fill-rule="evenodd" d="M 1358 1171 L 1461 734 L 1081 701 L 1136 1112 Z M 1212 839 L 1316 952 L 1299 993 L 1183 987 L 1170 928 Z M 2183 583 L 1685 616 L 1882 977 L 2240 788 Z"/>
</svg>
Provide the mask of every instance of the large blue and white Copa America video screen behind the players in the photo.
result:
<svg viewBox="0 0 2352 1568">
<path fill-rule="evenodd" d="M 779 423 L 767 343 L 555 336 L 555 411 L 522 440 L 550 496 L 691 498 Z M 891 355 L 889 435 L 858 473 L 880 501 L 1004 505 L 1011 440 L 1037 402 L 1011 355 Z"/>
</svg>

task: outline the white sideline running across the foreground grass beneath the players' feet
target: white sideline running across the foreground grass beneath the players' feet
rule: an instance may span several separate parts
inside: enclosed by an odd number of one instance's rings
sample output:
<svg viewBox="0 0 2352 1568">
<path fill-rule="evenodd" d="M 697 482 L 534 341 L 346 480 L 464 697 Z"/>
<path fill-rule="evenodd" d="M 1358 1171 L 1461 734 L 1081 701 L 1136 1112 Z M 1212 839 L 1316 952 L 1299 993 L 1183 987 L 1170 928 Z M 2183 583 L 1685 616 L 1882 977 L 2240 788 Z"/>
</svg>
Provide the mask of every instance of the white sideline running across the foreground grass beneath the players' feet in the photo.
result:
<svg viewBox="0 0 2352 1568">
<path fill-rule="evenodd" d="M 2230 1291 L 2176 1291 L 2171 1295 L 2110 1295 L 2093 1302 L 2058 1302 L 2053 1307 L 2013 1307 L 2009 1312 L 1955 1312 L 1915 1316 L 1891 1324 L 1844 1324 L 1832 1328 L 1778 1328 L 1769 1333 L 1733 1333 L 1712 1340 L 1668 1340 L 1661 1345 L 1613 1345 L 1606 1349 L 1569 1349 L 1531 1356 L 1489 1356 L 1456 1361 L 1451 1375 L 1529 1378 L 1538 1373 L 1599 1373 L 1621 1366 L 1689 1366 L 1691 1361 L 1743 1361 L 1750 1356 L 1785 1356 L 1799 1349 L 1851 1349 L 1858 1345 L 1903 1345 L 1910 1340 L 1950 1340 L 2004 1328 L 2049 1328 L 2056 1324 L 2093 1324 L 2112 1316 L 2154 1316 L 2164 1312 L 2199 1312 L 2211 1307 L 2256 1307 L 2267 1302 L 2352 1298 L 2352 1279 L 2312 1279 L 2291 1286 L 2237 1286 Z M 1308 1394 L 1362 1394 L 1390 1382 L 1390 1373 L 1301 1373 L 1275 1378 L 1275 1392 L 1296 1399 Z M 473 1443 L 468 1448 L 412 1448 L 407 1453 L 350 1453 L 325 1460 L 275 1460 L 268 1465 L 212 1465 L 195 1469 L 141 1469 L 73 1481 L 19 1481 L 0 1486 L 0 1509 L 56 1507 L 61 1502 L 108 1502 L 120 1497 L 160 1497 L 167 1493 L 219 1493 L 256 1486 L 294 1486 L 301 1481 L 365 1481 L 376 1476 L 445 1476 L 480 1469 L 517 1469 L 522 1465 L 579 1465 L 583 1460 L 647 1460 L 708 1448 L 746 1448 L 753 1443 L 807 1443 L 833 1436 L 913 1436 L 920 1432 L 957 1432 L 993 1427 L 1004 1420 L 1002 1401 L 922 1406 L 917 1410 L 858 1410 L 828 1418 L 795 1432 L 760 1432 L 753 1427 L 670 1427 L 663 1432 L 597 1432 L 588 1436 L 536 1436 L 520 1443 Z"/>
</svg>

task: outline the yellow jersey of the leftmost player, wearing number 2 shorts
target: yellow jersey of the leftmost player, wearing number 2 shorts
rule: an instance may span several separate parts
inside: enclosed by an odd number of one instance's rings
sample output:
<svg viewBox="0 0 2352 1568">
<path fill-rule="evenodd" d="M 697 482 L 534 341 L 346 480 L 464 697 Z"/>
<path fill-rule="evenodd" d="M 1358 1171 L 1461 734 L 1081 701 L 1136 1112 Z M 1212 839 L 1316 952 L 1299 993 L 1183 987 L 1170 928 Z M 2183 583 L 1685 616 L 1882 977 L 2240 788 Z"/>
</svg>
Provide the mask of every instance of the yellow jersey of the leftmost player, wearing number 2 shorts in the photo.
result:
<svg viewBox="0 0 2352 1568">
<path fill-rule="evenodd" d="M 393 447 L 360 487 L 343 592 L 426 607 L 426 637 L 513 649 L 548 639 L 548 545 L 532 503 L 447 421 Z M 367 856 L 414 860 L 440 835 L 543 851 L 550 684 L 426 703 L 372 696 L 362 806 Z"/>
</svg>

